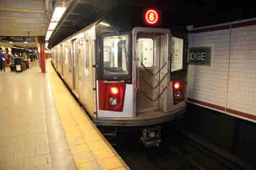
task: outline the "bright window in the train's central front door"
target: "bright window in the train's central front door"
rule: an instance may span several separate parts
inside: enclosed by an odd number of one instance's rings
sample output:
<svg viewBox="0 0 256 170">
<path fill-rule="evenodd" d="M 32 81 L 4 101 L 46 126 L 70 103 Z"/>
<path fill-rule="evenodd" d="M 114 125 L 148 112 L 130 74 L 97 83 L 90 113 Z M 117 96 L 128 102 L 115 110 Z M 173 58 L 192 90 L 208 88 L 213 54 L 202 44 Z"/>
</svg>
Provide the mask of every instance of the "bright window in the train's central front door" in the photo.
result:
<svg viewBox="0 0 256 170">
<path fill-rule="evenodd" d="M 139 66 L 145 67 L 154 66 L 154 40 L 152 38 L 138 39 L 138 58 L 140 60 Z"/>
</svg>

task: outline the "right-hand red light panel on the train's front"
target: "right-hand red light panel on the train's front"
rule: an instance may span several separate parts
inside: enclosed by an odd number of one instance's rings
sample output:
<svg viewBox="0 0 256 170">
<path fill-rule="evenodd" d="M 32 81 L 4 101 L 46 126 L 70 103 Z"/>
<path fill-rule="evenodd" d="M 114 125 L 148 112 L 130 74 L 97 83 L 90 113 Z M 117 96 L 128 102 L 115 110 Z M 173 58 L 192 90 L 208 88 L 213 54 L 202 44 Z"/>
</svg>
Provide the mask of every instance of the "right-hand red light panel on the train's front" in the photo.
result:
<svg viewBox="0 0 256 170">
<path fill-rule="evenodd" d="M 185 88 L 184 88 L 185 79 L 178 79 L 173 81 L 173 98 L 174 105 L 177 105 L 180 102 L 185 100 Z"/>
</svg>

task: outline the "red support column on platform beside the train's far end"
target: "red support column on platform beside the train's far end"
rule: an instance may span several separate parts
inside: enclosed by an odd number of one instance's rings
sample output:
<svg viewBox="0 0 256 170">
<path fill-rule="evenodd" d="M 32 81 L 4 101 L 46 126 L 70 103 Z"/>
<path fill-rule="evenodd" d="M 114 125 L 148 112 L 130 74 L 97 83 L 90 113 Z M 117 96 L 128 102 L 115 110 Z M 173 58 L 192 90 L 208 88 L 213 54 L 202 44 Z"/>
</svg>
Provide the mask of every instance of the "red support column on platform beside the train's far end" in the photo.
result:
<svg viewBox="0 0 256 170">
<path fill-rule="evenodd" d="M 41 68 L 41 72 L 46 72 L 46 54 L 45 54 L 45 36 L 39 36 L 38 37 L 38 59 L 39 59 L 39 65 Z"/>
</svg>

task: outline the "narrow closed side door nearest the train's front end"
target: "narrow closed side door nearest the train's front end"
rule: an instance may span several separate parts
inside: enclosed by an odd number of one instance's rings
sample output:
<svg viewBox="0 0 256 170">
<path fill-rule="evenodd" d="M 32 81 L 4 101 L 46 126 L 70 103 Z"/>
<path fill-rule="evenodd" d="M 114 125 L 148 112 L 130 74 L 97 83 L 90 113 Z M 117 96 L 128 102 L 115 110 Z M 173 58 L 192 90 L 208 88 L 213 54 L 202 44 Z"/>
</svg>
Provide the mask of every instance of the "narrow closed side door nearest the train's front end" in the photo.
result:
<svg viewBox="0 0 256 170">
<path fill-rule="evenodd" d="M 71 41 L 71 55 L 72 55 L 72 64 L 73 64 L 74 93 L 78 97 L 78 58 L 77 58 L 77 42 L 76 42 L 76 39 Z"/>
</svg>

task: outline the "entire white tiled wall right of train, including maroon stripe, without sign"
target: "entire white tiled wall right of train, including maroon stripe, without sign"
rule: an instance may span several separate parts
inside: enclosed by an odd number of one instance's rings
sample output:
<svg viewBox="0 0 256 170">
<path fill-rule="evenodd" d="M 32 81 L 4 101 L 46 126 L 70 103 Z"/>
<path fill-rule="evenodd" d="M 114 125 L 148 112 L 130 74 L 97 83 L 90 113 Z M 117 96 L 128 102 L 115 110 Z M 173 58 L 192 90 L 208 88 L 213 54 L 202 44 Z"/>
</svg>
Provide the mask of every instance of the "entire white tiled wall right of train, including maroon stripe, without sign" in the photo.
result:
<svg viewBox="0 0 256 170">
<path fill-rule="evenodd" d="M 247 24 L 189 35 L 189 47 L 210 46 L 212 54 L 210 66 L 188 66 L 187 101 L 256 122 L 256 26 Z"/>
</svg>

